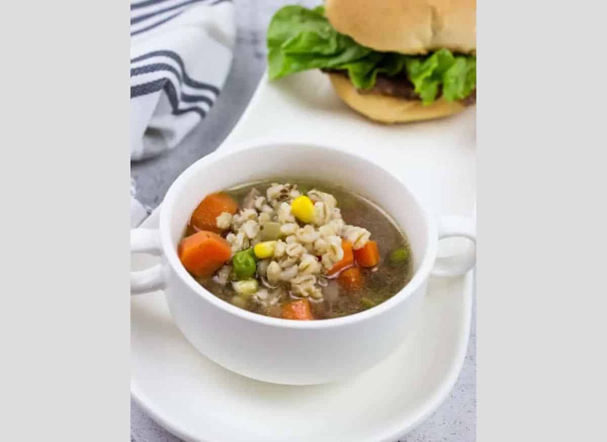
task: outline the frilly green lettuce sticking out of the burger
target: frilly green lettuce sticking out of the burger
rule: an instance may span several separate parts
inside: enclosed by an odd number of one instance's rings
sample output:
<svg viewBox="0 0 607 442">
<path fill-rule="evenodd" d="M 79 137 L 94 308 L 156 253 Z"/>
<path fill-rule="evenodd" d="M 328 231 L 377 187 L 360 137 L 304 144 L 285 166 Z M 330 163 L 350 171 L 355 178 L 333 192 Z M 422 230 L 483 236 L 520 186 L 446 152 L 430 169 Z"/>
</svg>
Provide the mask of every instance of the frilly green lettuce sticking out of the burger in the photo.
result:
<svg viewBox="0 0 607 442">
<path fill-rule="evenodd" d="M 447 101 L 466 98 L 476 87 L 476 56 L 453 55 L 447 49 L 427 56 L 378 52 L 337 32 L 322 6 L 297 5 L 278 10 L 267 34 L 270 79 L 309 69 L 345 70 L 357 89 L 370 89 L 378 73 L 405 73 L 424 104 L 442 91 Z"/>
</svg>

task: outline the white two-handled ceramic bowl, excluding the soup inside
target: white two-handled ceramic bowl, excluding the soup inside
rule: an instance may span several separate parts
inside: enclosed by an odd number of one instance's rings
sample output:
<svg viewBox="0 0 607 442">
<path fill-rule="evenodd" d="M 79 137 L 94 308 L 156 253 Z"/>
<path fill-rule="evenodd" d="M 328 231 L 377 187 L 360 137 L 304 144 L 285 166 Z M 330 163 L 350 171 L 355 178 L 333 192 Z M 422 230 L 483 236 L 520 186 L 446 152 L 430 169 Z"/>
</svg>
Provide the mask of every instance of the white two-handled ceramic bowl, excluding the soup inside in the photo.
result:
<svg viewBox="0 0 607 442">
<path fill-rule="evenodd" d="M 231 147 L 240 152 L 228 146 L 178 176 L 164 196 L 158 229 L 131 230 L 131 252 L 162 257 L 157 266 L 131 272 L 131 293 L 163 289 L 183 335 L 222 367 L 287 385 L 324 384 L 359 375 L 392 353 L 415 326 L 430 275 L 465 275 L 474 266 L 473 248 L 454 256 L 451 265 L 437 259 L 439 239 L 476 241 L 472 218 L 429 213 L 398 178 L 363 156 L 343 147 L 291 139 L 256 138 Z M 271 176 L 330 181 L 378 204 L 406 232 L 413 278 L 373 309 L 324 321 L 257 315 L 209 293 L 177 255 L 192 212 L 211 192 Z"/>
</svg>

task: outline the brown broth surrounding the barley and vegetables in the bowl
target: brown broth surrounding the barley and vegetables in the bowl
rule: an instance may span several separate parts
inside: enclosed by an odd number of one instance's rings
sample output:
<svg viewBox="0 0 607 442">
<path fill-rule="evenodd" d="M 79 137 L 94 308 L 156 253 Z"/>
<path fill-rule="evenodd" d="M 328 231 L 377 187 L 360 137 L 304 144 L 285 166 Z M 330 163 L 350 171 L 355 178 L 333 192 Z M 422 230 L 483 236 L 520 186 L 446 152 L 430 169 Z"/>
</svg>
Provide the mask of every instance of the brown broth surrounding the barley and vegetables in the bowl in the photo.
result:
<svg viewBox="0 0 607 442">
<path fill-rule="evenodd" d="M 326 272 L 323 271 L 322 274 L 318 275 L 317 284 L 322 290 L 322 299 L 316 300 L 312 296 L 307 297 L 310 301 L 310 309 L 314 319 L 337 318 L 361 312 L 391 298 L 405 284 L 409 283 L 413 273 L 413 259 L 405 234 L 388 218 L 385 212 L 367 199 L 362 198 L 362 196 L 319 181 L 293 181 L 290 179 L 254 182 L 225 190 L 225 193 L 236 200 L 239 210 L 242 210 L 246 197 L 251 195 L 253 189 L 257 189 L 260 195 L 265 196 L 268 188 L 276 182 L 294 182 L 297 190 L 302 195 L 306 195 L 312 189 L 333 195 L 337 200 L 337 208 L 341 210 L 341 218 L 345 224 L 367 229 L 370 232 L 370 240 L 375 241 L 377 249 L 379 249 L 379 264 L 370 268 L 357 266 L 357 275 L 354 276 L 358 277 L 359 275 L 360 279 L 354 282 L 358 281 L 356 283 L 359 284 L 358 286 L 356 284 L 350 286 L 342 284 L 340 273 L 326 275 Z M 188 225 L 185 236 L 197 232 L 197 227 L 192 224 L 191 222 Z M 299 227 L 305 226 L 305 223 L 302 223 L 299 219 L 297 219 L 297 224 Z M 223 233 L 222 236 L 225 238 L 227 235 Z M 357 250 L 354 250 L 354 252 L 355 255 L 358 253 Z M 259 264 L 257 265 L 259 266 Z M 260 271 L 257 270 L 255 277 L 259 278 L 259 275 Z M 231 278 L 234 278 L 233 274 Z M 267 301 L 267 298 L 262 301 L 259 296 L 249 296 L 246 303 L 241 301 L 236 303 L 234 300 L 237 292 L 231 283 L 222 284 L 218 282 L 215 275 L 196 279 L 205 289 L 222 300 L 267 316 L 285 317 L 283 310 L 285 305 L 302 298 L 302 296 L 293 293 L 289 283 L 280 282 L 275 286 L 271 284 L 266 284 L 266 287 L 263 284 L 259 285 L 260 289 L 265 289 L 269 293 L 270 301 Z M 261 278 L 260 281 L 267 282 L 261 280 Z M 268 286 L 275 288 L 268 288 Z"/>
</svg>

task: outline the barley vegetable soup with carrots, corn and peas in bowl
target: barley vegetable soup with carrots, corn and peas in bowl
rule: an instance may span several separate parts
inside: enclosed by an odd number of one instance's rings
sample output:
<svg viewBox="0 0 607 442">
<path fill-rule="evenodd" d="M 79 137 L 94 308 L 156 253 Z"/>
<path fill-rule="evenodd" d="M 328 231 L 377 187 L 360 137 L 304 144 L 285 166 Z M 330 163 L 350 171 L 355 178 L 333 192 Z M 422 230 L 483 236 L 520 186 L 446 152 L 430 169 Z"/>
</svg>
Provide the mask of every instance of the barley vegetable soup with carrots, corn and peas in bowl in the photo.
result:
<svg viewBox="0 0 607 442">
<path fill-rule="evenodd" d="M 181 263 L 222 300 L 291 320 L 358 313 L 409 282 L 409 243 L 385 212 L 341 187 L 296 183 L 207 195 L 179 245 Z"/>
</svg>

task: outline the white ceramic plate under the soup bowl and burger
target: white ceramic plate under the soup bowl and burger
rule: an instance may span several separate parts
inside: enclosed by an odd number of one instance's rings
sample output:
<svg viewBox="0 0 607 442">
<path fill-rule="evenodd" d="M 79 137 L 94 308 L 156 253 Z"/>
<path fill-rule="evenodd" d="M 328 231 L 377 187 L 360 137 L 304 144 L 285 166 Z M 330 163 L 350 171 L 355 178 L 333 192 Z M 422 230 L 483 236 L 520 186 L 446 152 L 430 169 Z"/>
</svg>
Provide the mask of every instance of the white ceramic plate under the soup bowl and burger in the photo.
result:
<svg viewBox="0 0 607 442">
<path fill-rule="evenodd" d="M 436 213 L 475 212 L 474 109 L 387 127 L 341 104 L 320 73 L 276 84 L 264 77 L 226 142 L 285 131 L 368 155 Z M 142 227 L 157 223 L 158 210 Z M 442 254 L 461 247 L 443 244 Z M 132 268 L 155 261 L 133 255 Z M 395 353 L 352 380 L 309 387 L 266 384 L 217 366 L 183 338 L 162 292 L 137 296 L 131 301 L 131 393 L 186 441 L 394 442 L 432 414 L 455 384 L 470 333 L 472 281 L 472 273 L 430 280 L 416 332 Z"/>
</svg>

